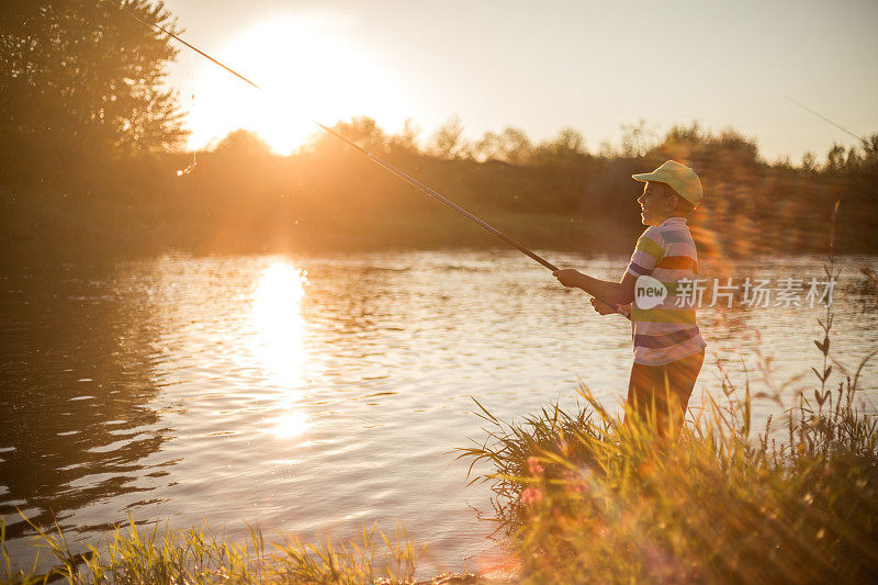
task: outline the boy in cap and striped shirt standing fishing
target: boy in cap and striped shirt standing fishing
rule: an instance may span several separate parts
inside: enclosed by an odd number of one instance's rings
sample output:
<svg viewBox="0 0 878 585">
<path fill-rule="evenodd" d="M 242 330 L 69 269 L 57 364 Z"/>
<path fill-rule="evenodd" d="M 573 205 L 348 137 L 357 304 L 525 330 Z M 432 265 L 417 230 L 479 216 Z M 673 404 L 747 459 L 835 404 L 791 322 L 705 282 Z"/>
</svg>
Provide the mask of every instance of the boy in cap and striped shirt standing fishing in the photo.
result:
<svg viewBox="0 0 878 585">
<path fill-rule="evenodd" d="M 616 311 L 598 299 L 622 308 L 630 306 L 634 363 L 628 385 L 629 409 L 648 420 L 654 403 L 660 432 L 663 438 L 676 440 L 705 359 L 705 341 L 696 325 L 691 294 L 698 256 L 686 225 L 703 192 L 695 171 L 674 160 L 632 178 L 645 183 L 638 203 L 643 225 L 650 227 L 638 239 L 622 280 L 598 280 L 573 269 L 553 274 L 564 286 L 579 288 L 593 295 L 592 305 L 601 315 Z M 638 291 L 643 291 L 650 284 L 654 290 L 660 282 L 667 290 L 664 300 L 642 295 L 635 299 L 635 284 L 640 284 Z"/>
</svg>

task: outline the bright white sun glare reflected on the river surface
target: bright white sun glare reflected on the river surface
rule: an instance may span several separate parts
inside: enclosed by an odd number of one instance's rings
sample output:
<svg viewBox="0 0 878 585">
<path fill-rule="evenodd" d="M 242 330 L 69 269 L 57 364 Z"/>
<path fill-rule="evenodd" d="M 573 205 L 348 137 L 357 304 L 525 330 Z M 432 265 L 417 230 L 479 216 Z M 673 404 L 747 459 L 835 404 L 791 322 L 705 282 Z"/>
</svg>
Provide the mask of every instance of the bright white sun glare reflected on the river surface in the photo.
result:
<svg viewBox="0 0 878 585">
<path fill-rule="evenodd" d="M 268 429 L 278 438 L 294 437 L 308 426 L 305 414 L 295 409 L 302 397 L 307 362 L 302 318 L 306 285 L 304 270 L 286 262 L 274 262 L 262 272 L 254 296 L 252 350 L 262 363 L 266 379 L 282 391 L 277 407 L 283 414 L 272 418 Z"/>
</svg>

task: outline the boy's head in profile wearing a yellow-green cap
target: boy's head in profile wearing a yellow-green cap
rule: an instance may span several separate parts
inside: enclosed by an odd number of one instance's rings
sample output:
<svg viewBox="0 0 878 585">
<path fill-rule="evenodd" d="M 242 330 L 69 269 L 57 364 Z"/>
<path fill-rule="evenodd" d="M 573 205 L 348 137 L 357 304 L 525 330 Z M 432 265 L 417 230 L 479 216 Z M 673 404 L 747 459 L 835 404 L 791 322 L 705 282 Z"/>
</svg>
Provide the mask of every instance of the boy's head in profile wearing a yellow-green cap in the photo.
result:
<svg viewBox="0 0 878 585">
<path fill-rule="evenodd" d="M 695 171 L 675 160 L 668 160 L 652 172 L 631 177 L 646 183 L 638 198 L 644 225 L 660 225 L 668 217 L 686 217 L 703 195 Z"/>
</svg>

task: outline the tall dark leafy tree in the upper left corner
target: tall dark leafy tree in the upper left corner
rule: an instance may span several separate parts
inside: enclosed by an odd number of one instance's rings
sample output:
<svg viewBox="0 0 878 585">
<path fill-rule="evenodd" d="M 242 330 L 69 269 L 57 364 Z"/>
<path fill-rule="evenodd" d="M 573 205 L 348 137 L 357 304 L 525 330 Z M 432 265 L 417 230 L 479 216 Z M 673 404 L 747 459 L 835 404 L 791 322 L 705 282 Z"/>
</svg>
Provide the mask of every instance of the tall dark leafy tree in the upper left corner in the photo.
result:
<svg viewBox="0 0 878 585">
<path fill-rule="evenodd" d="M 161 1 L 7 0 L 0 13 L 3 168 L 72 169 L 185 137 L 166 67 L 177 32 Z M 27 164 L 31 165 L 27 165 Z"/>
</svg>

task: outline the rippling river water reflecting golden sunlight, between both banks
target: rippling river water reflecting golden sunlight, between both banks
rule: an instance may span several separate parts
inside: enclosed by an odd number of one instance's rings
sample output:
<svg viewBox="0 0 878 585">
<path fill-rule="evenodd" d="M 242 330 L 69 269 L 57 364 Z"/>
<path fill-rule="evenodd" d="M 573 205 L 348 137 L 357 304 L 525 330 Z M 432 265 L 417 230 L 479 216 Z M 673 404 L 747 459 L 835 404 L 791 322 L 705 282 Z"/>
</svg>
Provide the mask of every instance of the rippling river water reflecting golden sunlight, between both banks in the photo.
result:
<svg viewBox="0 0 878 585">
<path fill-rule="evenodd" d="M 550 257 L 614 279 L 626 263 Z M 691 406 L 702 390 L 722 396 L 718 357 L 754 389 L 770 358 L 773 383 L 793 380 L 788 403 L 814 386 L 825 307 L 807 292 L 825 280 L 822 262 L 706 262 L 708 286 L 764 278 L 775 297 L 699 312 L 708 351 Z M 878 258 L 840 259 L 834 288 L 832 353 L 848 368 L 878 348 L 860 267 Z M 787 278 L 804 281 L 804 306 L 774 306 Z M 427 545 L 424 574 L 485 570 L 498 554 L 479 518 L 489 492 L 466 486 L 453 453 L 484 438 L 472 397 L 510 419 L 572 407 L 585 383 L 616 409 L 631 363 L 627 322 L 599 317 L 516 252 L 169 255 L 7 267 L 0 284 L 0 513 L 22 564 L 33 551 L 15 507 L 56 517 L 80 549 L 128 515 L 175 527 L 206 517 L 233 539 L 245 521 L 304 540 L 399 521 Z M 860 385 L 874 410 L 874 362 Z M 756 423 L 781 410 L 757 401 Z"/>
</svg>

